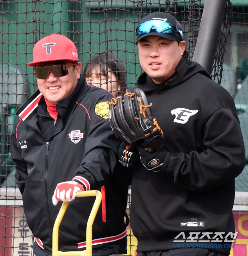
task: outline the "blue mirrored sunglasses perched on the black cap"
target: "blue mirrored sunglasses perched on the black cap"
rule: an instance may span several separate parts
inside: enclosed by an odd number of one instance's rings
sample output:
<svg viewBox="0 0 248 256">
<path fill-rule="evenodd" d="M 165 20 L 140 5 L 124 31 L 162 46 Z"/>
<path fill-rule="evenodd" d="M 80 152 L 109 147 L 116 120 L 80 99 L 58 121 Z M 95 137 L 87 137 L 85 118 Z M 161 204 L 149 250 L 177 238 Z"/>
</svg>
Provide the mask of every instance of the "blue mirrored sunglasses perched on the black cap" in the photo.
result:
<svg viewBox="0 0 248 256">
<path fill-rule="evenodd" d="M 158 33 L 169 33 L 173 34 L 173 28 L 179 34 L 181 40 L 184 40 L 182 34 L 180 33 L 179 29 L 170 24 L 169 22 L 162 21 L 162 20 L 147 20 L 141 23 L 135 31 L 135 34 L 145 34 L 150 33 L 152 28 L 155 28 Z"/>
</svg>

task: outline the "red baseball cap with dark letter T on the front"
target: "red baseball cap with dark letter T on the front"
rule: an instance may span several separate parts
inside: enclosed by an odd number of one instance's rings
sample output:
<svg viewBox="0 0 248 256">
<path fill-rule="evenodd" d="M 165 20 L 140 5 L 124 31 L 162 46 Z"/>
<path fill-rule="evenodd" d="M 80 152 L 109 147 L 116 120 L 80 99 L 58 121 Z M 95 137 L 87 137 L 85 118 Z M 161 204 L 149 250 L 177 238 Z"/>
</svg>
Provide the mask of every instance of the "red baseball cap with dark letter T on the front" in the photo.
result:
<svg viewBox="0 0 248 256">
<path fill-rule="evenodd" d="M 28 65 L 46 61 L 70 60 L 78 61 L 78 50 L 75 44 L 67 37 L 57 34 L 40 39 L 33 49 L 33 61 Z"/>
</svg>

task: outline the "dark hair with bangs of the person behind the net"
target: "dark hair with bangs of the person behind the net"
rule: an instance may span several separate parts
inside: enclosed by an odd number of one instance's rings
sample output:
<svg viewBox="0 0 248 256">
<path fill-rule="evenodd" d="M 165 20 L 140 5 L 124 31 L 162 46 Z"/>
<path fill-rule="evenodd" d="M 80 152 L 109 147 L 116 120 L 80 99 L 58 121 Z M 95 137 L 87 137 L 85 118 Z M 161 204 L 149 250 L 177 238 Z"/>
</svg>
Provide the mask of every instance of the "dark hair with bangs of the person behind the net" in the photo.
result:
<svg viewBox="0 0 248 256">
<path fill-rule="evenodd" d="M 120 83 L 120 91 L 126 90 L 126 70 L 120 59 L 113 53 L 101 53 L 90 57 L 83 72 L 83 76 L 91 75 L 91 70 L 100 66 L 101 74 L 107 77 L 109 71 L 114 72 L 115 76 Z M 121 92 L 118 92 L 120 95 Z"/>
</svg>

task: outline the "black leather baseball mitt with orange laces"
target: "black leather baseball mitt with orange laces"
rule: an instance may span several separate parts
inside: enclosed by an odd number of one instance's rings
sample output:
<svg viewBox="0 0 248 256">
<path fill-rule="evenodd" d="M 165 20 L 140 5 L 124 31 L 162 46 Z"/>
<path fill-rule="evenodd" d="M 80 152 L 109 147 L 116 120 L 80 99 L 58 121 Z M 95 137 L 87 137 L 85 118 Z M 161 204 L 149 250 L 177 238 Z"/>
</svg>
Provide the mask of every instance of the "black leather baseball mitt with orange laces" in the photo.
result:
<svg viewBox="0 0 248 256">
<path fill-rule="evenodd" d="M 141 145 L 148 152 L 155 152 L 164 143 L 163 131 L 157 124 L 145 93 L 136 88 L 133 93 L 112 98 L 109 120 L 112 130 L 126 145 Z"/>
</svg>

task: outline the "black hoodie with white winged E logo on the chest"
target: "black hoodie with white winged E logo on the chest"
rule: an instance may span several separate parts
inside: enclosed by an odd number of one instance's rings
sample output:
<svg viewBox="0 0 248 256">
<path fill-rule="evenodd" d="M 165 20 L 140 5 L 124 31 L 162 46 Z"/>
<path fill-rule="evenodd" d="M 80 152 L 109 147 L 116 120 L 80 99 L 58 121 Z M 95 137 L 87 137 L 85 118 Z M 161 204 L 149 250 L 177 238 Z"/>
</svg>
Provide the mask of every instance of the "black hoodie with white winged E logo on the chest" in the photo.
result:
<svg viewBox="0 0 248 256">
<path fill-rule="evenodd" d="M 167 81 L 157 85 L 143 73 L 137 87 L 152 103 L 168 151 L 160 171 L 138 163 L 133 172 L 131 227 L 137 251 L 182 246 L 229 255 L 234 179 L 245 165 L 232 97 L 201 65 L 188 61 L 187 52 Z"/>
</svg>

